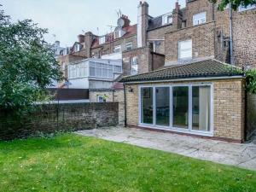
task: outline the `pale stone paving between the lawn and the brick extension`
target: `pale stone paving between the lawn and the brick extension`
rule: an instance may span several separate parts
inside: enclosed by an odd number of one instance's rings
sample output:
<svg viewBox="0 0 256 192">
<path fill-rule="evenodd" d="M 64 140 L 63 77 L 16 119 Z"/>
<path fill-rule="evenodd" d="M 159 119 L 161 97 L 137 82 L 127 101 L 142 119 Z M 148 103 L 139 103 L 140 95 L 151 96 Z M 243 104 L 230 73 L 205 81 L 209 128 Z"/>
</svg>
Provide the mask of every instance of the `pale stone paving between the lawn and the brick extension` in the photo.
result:
<svg viewBox="0 0 256 192">
<path fill-rule="evenodd" d="M 213 162 L 240 166 L 256 171 L 256 139 L 252 143 L 226 143 L 211 139 L 135 128 L 108 127 L 77 131 L 79 135 L 154 148 Z"/>
</svg>

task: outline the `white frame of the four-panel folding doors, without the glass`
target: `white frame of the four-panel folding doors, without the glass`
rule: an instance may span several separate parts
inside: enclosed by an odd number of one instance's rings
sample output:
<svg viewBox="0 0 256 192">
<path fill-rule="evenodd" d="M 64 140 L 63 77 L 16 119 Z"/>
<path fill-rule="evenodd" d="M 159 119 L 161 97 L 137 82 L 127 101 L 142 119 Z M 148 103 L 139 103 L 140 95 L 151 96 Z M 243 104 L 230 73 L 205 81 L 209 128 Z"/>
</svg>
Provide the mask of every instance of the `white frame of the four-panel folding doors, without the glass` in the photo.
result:
<svg viewBox="0 0 256 192">
<path fill-rule="evenodd" d="M 172 108 L 172 100 L 173 100 L 173 87 L 177 87 L 177 86 L 187 86 L 189 87 L 189 129 L 185 130 L 185 129 L 181 129 L 181 128 L 177 128 L 177 127 L 173 127 L 172 123 L 173 123 L 173 108 Z M 211 122 L 210 122 L 210 131 L 196 131 L 192 129 L 192 87 L 193 86 L 210 86 L 211 89 Z M 142 88 L 153 88 L 153 124 L 149 125 L 149 124 L 143 124 L 142 123 Z M 170 120 L 169 126 L 163 126 L 163 125 L 156 125 L 156 119 L 155 119 L 155 108 L 156 108 L 156 104 L 155 104 L 155 88 L 158 87 L 170 87 Z M 214 103 L 213 103 L 213 99 L 214 99 L 214 95 L 213 95 L 213 84 L 212 83 L 204 83 L 204 84 L 168 84 L 168 85 L 161 85 L 161 84 L 153 84 L 153 85 L 139 85 L 138 86 L 139 90 L 138 90 L 138 125 L 142 126 L 142 127 L 148 127 L 148 128 L 153 128 L 153 129 L 158 129 L 158 130 L 166 130 L 166 131 L 177 131 L 177 132 L 182 132 L 182 133 L 189 133 L 189 134 L 193 134 L 193 135 L 200 135 L 200 136 L 207 136 L 207 137 L 213 137 L 213 123 L 214 123 Z"/>
</svg>

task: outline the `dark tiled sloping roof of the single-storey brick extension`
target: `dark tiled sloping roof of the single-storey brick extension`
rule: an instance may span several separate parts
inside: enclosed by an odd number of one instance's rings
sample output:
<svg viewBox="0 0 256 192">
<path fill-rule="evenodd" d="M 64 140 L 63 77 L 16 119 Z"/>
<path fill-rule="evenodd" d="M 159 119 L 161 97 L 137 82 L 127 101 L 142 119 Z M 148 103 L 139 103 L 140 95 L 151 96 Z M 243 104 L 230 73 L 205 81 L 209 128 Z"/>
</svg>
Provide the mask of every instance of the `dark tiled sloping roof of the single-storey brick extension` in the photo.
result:
<svg viewBox="0 0 256 192">
<path fill-rule="evenodd" d="M 186 79 L 186 78 L 211 78 L 224 76 L 241 76 L 243 73 L 238 67 L 232 67 L 230 64 L 223 63 L 214 59 L 205 61 L 196 61 L 189 64 L 183 64 L 174 67 L 166 67 L 149 73 L 124 77 L 120 82 L 139 82 L 168 79 Z"/>
</svg>

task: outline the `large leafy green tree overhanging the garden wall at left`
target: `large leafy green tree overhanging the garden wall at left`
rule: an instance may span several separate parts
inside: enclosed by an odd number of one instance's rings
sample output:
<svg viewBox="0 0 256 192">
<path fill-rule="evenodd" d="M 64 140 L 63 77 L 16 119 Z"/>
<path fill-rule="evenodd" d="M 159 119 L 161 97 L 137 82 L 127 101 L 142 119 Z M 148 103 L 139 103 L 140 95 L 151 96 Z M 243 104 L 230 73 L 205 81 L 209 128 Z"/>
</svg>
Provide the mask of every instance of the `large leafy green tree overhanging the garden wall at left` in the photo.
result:
<svg viewBox="0 0 256 192">
<path fill-rule="evenodd" d="M 47 96 L 45 88 L 61 80 L 54 50 L 44 41 L 48 31 L 32 20 L 13 23 L 0 5 L 0 109 L 26 113 Z"/>
</svg>

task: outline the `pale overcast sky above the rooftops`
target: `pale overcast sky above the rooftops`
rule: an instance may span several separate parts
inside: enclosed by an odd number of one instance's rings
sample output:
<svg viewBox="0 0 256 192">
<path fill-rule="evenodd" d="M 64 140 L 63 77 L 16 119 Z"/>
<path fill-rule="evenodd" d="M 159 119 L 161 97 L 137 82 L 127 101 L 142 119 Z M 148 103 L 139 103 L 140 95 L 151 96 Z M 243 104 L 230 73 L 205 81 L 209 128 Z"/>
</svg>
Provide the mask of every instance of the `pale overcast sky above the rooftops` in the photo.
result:
<svg viewBox="0 0 256 192">
<path fill-rule="evenodd" d="M 147 0 L 149 15 L 171 12 L 177 0 Z M 32 19 L 42 28 L 48 43 L 61 41 L 61 46 L 72 46 L 79 34 L 93 32 L 103 35 L 116 26 L 117 11 L 128 15 L 131 24 L 137 23 L 137 5 L 140 0 L 0 0 L 1 9 L 12 20 Z M 179 0 L 182 7 L 185 0 Z M 97 30 L 98 29 L 98 30 Z"/>
</svg>

